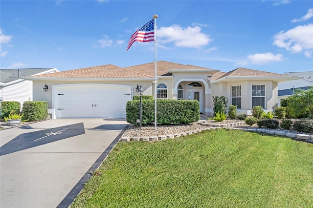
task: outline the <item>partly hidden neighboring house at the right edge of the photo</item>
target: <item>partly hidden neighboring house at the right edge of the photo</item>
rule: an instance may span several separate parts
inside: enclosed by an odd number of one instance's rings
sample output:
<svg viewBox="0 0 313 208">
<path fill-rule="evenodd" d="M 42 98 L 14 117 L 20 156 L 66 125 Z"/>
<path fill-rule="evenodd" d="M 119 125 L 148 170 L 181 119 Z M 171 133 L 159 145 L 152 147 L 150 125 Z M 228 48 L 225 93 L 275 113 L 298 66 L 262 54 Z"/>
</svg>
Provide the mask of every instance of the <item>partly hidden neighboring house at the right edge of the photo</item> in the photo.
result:
<svg viewBox="0 0 313 208">
<path fill-rule="evenodd" d="M 306 90 L 308 87 L 313 86 L 313 71 L 286 72 L 284 74 L 295 77 L 302 77 L 302 79 L 278 83 L 278 106 L 280 106 L 281 100 L 291 96 L 294 93 L 294 90 Z"/>
</svg>

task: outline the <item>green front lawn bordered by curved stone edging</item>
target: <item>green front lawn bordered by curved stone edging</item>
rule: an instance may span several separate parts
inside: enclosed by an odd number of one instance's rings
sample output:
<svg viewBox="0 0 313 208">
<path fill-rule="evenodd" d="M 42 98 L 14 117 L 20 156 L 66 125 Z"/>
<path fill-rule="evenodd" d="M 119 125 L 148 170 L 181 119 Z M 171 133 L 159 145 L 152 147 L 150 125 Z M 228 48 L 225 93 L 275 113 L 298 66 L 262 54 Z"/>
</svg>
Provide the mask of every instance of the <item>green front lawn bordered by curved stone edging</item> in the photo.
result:
<svg viewBox="0 0 313 208">
<path fill-rule="evenodd" d="M 313 145 L 225 129 L 118 143 L 72 207 L 313 207 Z"/>
</svg>

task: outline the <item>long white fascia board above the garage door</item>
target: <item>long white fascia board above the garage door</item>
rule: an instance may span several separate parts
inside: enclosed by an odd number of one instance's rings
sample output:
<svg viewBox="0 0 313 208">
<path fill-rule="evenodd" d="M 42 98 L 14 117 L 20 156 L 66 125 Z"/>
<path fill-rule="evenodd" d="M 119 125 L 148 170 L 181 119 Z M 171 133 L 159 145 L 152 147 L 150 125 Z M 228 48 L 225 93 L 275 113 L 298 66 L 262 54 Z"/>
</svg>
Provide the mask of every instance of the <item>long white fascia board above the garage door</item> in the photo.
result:
<svg viewBox="0 0 313 208">
<path fill-rule="evenodd" d="M 37 81 L 154 81 L 155 78 L 93 78 L 93 77 L 21 77 Z"/>
</svg>

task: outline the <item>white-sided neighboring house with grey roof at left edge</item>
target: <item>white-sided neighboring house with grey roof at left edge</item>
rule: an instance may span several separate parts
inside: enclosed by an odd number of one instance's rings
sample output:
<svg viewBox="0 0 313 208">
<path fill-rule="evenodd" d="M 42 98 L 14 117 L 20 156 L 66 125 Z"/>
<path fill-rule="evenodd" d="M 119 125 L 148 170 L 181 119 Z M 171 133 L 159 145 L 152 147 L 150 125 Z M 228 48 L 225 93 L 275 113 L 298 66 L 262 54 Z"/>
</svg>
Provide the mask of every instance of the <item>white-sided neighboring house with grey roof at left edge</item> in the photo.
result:
<svg viewBox="0 0 313 208">
<path fill-rule="evenodd" d="M 0 69 L 0 101 L 33 100 L 33 82 L 21 77 L 58 72 L 56 68 Z"/>
</svg>

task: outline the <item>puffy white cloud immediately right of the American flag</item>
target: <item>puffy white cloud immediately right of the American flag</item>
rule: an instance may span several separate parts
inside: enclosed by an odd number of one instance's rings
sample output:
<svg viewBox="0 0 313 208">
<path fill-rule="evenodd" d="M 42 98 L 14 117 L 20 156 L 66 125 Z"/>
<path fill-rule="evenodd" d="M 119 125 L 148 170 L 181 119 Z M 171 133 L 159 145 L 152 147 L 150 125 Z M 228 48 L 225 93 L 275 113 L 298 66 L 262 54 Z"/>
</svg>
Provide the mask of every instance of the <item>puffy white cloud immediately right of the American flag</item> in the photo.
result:
<svg viewBox="0 0 313 208">
<path fill-rule="evenodd" d="M 199 48 L 213 41 L 209 35 L 201 33 L 201 27 L 199 26 L 183 28 L 177 24 L 161 27 L 157 31 L 157 38 L 161 43 L 174 42 L 177 47 L 191 48 Z"/>
</svg>

